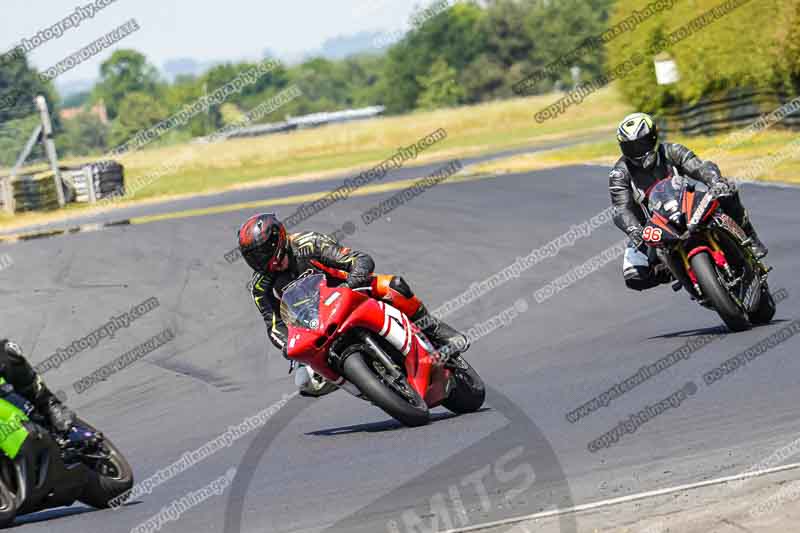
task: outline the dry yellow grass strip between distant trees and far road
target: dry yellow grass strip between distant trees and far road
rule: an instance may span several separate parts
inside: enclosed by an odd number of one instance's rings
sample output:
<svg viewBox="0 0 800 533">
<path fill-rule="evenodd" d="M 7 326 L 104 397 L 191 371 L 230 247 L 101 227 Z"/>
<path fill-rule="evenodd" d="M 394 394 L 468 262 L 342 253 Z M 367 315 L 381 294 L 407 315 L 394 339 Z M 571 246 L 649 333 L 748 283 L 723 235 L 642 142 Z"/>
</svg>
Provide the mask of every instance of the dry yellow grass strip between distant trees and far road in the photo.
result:
<svg viewBox="0 0 800 533">
<path fill-rule="evenodd" d="M 570 108 L 558 120 L 537 124 L 534 113 L 558 98 L 559 95 L 552 94 L 518 98 L 211 145 L 188 143 L 154 147 L 119 159 L 125 166 L 129 183 L 160 172 L 169 162 L 179 163 L 150 185 L 137 190 L 134 196 L 100 208 L 81 204 L 54 213 L 0 215 L 0 228 L 42 224 L 80 213 L 231 188 L 324 179 L 368 168 L 439 128 L 447 131 L 447 139 L 409 161 L 408 165 L 613 129 L 619 117 L 629 111 L 617 93 L 609 88 L 590 96 L 582 106 Z M 85 158 L 71 159 L 63 164 L 86 161 Z"/>
</svg>

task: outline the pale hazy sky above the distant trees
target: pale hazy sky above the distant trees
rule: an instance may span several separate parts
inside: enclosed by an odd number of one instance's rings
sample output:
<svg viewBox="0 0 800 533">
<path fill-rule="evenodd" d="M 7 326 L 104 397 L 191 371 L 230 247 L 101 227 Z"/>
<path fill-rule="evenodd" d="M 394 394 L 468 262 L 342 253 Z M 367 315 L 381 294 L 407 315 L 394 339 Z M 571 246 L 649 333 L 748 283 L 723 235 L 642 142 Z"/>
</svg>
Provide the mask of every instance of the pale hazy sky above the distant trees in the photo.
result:
<svg viewBox="0 0 800 533">
<path fill-rule="evenodd" d="M 31 39 L 78 6 L 95 1 L 3 0 L 0 46 L 8 50 Z M 139 30 L 96 57 L 63 73 L 60 84 L 93 80 L 100 63 L 117 48 L 144 53 L 161 69 L 171 59 L 197 61 L 260 59 L 269 49 L 279 57 L 298 57 L 326 40 L 360 31 L 396 31 L 408 26 L 415 6 L 431 0 L 108 0 L 112 4 L 85 17 L 78 27 L 42 43 L 30 62 L 45 70 L 109 31 L 136 19 Z M 33 7 L 35 6 L 35 7 Z M 84 11 L 89 13 L 90 11 Z"/>
</svg>

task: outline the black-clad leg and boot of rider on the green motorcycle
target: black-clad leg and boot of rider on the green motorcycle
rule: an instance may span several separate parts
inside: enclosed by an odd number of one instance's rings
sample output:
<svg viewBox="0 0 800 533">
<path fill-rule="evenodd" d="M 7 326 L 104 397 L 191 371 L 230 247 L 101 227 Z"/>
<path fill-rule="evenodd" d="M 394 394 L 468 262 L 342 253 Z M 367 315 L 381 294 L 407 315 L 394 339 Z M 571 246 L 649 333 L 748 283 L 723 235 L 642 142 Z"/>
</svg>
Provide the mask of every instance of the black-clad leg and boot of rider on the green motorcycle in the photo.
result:
<svg viewBox="0 0 800 533">
<path fill-rule="evenodd" d="M 75 424 L 75 413 L 50 392 L 19 345 L 8 339 L 0 340 L 0 375 L 13 387 L 13 391 L 2 387 L 2 394 L 14 392 L 31 402 L 56 432 L 66 433 Z"/>
</svg>

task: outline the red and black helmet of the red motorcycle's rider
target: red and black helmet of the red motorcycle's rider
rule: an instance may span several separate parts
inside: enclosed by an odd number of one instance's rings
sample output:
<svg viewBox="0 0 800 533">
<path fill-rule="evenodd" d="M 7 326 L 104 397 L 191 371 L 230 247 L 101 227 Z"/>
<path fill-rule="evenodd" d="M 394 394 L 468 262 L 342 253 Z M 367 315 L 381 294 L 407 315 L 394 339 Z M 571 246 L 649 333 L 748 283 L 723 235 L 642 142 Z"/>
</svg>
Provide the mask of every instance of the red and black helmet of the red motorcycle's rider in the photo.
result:
<svg viewBox="0 0 800 533">
<path fill-rule="evenodd" d="M 239 228 L 242 257 L 259 274 L 276 272 L 286 249 L 286 228 L 272 213 L 252 216 Z"/>
</svg>

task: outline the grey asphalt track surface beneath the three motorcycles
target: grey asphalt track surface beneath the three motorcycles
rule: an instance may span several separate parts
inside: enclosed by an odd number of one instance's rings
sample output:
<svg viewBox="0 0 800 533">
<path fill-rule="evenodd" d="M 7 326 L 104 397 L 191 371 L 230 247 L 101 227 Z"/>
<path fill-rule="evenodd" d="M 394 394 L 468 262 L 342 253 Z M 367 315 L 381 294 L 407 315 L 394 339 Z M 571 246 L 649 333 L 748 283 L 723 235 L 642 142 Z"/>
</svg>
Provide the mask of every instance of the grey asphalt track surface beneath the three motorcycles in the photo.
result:
<svg viewBox="0 0 800 533">
<path fill-rule="evenodd" d="M 300 229 L 332 231 L 354 222 L 348 245 L 370 251 L 379 271 L 402 274 L 436 307 L 605 209 L 606 175 L 582 166 L 446 183 L 368 226 L 360 214 L 394 193 L 354 197 Z M 744 191 L 771 246 L 771 285 L 789 293 L 776 323 L 723 335 L 576 423 L 565 414 L 720 326 L 714 313 L 669 287 L 626 291 L 620 259 L 536 303 L 535 291 L 620 240 L 611 223 L 448 317 L 466 329 L 520 299 L 528 303 L 468 352 L 490 386 L 485 410 L 451 417 L 437 409 L 429 426 L 404 429 L 343 391 L 292 398 L 262 429 L 121 510 L 76 505 L 23 517 L 19 529 L 128 532 L 232 467 L 232 486 L 161 531 L 435 531 L 450 527 L 448 519 L 452 527 L 472 526 L 741 472 L 800 434 L 800 340 L 713 386 L 702 379 L 800 316 L 800 190 Z M 121 447 L 139 480 L 294 391 L 245 289 L 246 266 L 223 259 L 250 214 L 0 246 L 13 260 L 0 271 L 2 333 L 35 363 L 112 315 L 159 299 L 158 309 L 113 339 L 45 374 Z M 167 327 L 175 340 L 83 394 L 72 388 Z M 679 407 L 589 452 L 589 441 L 690 381 L 697 392 Z M 570 517 L 559 523 L 565 533 L 576 528 Z"/>
</svg>

